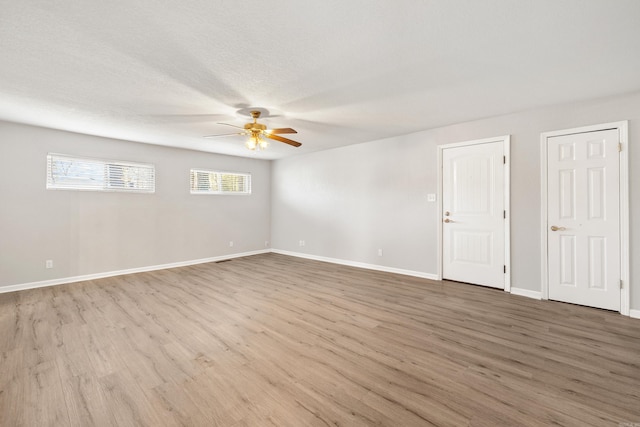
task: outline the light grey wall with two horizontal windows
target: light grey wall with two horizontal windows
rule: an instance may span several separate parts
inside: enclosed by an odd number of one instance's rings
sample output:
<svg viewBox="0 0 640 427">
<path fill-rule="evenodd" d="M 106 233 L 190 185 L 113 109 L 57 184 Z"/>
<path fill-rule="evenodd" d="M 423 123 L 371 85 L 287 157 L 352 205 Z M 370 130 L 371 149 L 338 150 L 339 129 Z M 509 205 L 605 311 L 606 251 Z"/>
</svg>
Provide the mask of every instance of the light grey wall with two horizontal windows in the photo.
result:
<svg viewBox="0 0 640 427">
<path fill-rule="evenodd" d="M 153 163 L 156 193 L 46 190 L 49 152 Z M 270 240 L 270 161 L 0 122 L 0 165 L 0 287 L 261 250 Z M 193 167 L 251 172 L 252 194 L 192 196 Z"/>
</svg>

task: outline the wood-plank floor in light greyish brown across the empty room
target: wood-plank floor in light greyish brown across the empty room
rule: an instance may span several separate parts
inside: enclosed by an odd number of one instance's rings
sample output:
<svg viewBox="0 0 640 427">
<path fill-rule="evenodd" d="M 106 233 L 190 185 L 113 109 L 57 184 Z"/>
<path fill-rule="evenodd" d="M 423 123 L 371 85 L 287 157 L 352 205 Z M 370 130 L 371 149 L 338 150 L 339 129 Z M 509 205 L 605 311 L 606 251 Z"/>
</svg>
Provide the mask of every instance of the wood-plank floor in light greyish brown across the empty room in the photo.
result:
<svg viewBox="0 0 640 427">
<path fill-rule="evenodd" d="M 276 254 L 0 294 L 0 426 L 625 422 L 597 309 Z"/>
</svg>

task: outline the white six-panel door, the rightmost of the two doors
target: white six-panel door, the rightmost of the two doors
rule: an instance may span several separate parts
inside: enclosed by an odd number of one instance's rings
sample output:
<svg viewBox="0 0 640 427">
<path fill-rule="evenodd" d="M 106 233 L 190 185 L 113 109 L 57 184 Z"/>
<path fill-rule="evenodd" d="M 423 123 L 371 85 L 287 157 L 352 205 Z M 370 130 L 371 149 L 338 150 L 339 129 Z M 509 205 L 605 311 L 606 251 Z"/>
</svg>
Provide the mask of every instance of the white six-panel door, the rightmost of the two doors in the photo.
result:
<svg viewBox="0 0 640 427">
<path fill-rule="evenodd" d="M 617 129 L 547 139 L 549 299 L 620 310 Z"/>
</svg>

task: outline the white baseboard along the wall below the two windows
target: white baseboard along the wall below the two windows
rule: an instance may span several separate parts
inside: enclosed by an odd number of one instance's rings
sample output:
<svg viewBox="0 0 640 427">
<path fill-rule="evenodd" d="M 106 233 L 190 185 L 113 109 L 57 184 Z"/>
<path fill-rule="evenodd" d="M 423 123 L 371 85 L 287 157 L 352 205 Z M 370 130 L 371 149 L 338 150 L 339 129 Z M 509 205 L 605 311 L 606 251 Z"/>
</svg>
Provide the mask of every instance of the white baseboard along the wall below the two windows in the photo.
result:
<svg viewBox="0 0 640 427">
<path fill-rule="evenodd" d="M 127 270 L 106 271 L 104 273 L 85 274 L 82 276 L 61 277 L 59 279 L 43 280 L 41 282 L 22 283 L 18 285 L 9 285 L 0 287 L 0 294 L 6 292 L 23 291 L 26 289 L 44 288 L 47 286 L 64 285 L 65 283 L 83 282 L 85 280 L 103 279 L 105 277 L 121 276 L 123 274 L 144 273 L 146 271 L 164 270 L 167 268 L 186 267 L 189 265 L 204 264 L 207 262 L 224 261 L 233 258 L 240 258 L 250 255 L 258 255 L 271 252 L 270 249 L 262 249 L 259 251 L 242 252 L 230 255 L 221 255 L 211 258 L 195 259 L 190 261 L 172 262 L 169 264 L 152 265 L 147 267 L 129 268 Z"/>
</svg>

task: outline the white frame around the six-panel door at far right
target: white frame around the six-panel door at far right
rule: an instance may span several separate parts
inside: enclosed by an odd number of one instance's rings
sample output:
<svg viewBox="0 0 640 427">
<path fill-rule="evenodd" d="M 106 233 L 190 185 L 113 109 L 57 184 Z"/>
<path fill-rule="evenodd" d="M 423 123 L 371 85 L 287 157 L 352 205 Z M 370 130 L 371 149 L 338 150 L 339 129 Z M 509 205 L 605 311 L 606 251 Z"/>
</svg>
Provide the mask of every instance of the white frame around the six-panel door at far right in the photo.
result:
<svg viewBox="0 0 640 427">
<path fill-rule="evenodd" d="M 569 135 L 574 133 L 596 132 L 600 130 L 617 129 L 620 135 L 620 279 L 622 289 L 620 291 L 620 313 L 629 316 L 629 155 L 628 121 L 604 123 L 600 125 L 584 126 L 573 129 L 564 129 L 553 132 L 544 132 L 540 135 L 540 205 L 541 205 L 541 278 L 542 299 L 549 299 L 549 265 L 547 242 L 547 140 L 554 136 Z"/>
</svg>

